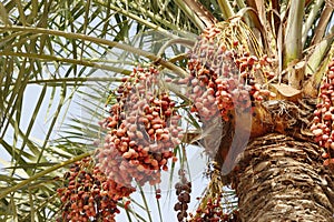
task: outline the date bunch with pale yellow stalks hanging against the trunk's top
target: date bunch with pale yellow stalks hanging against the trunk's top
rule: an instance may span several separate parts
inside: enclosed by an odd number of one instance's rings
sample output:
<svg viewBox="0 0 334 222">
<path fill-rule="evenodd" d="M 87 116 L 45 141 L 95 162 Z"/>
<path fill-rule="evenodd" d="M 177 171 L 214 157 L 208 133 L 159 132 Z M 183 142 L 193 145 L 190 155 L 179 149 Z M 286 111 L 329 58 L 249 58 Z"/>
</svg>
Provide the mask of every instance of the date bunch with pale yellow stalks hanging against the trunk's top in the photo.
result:
<svg viewBox="0 0 334 222">
<path fill-rule="evenodd" d="M 235 41 L 227 41 L 233 38 Z M 233 38 L 226 38 L 219 24 L 204 30 L 189 52 L 190 77 L 179 80 L 189 88 L 193 111 L 204 121 L 216 114 L 228 121 L 235 108 L 239 112 L 249 111 L 256 101 L 275 97 L 261 84 L 275 77 L 271 71 L 273 60 L 250 56 Z"/>
</svg>

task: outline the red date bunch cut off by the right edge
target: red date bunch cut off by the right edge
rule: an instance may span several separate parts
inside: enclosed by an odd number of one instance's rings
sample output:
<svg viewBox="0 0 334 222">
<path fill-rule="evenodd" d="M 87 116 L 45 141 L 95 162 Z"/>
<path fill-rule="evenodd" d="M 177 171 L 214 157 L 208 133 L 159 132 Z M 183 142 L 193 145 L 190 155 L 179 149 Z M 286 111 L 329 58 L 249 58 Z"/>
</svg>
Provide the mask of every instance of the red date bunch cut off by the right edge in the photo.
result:
<svg viewBox="0 0 334 222">
<path fill-rule="evenodd" d="M 334 58 L 324 75 L 311 131 L 323 153 L 324 165 L 334 165 Z"/>
</svg>

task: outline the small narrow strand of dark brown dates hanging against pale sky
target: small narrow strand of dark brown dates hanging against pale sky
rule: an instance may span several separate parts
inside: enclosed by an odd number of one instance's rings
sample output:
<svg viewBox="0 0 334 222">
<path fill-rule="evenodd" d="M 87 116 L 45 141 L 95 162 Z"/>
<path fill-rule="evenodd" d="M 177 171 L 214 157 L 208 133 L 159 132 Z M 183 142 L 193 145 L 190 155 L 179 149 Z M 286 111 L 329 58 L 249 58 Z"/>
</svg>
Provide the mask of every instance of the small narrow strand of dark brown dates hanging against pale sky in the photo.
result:
<svg viewBox="0 0 334 222">
<path fill-rule="evenodd" d="M 187 210 L 190 202 L 191 183 L 186 179 L 185 170 L 178 171 L 180 181 L 175 184 L 176 195 L 178 202 L 174 205 L 174 210 L 177 213 L 177 220 L 184 221 L 188 216 Z"/>
</svg>

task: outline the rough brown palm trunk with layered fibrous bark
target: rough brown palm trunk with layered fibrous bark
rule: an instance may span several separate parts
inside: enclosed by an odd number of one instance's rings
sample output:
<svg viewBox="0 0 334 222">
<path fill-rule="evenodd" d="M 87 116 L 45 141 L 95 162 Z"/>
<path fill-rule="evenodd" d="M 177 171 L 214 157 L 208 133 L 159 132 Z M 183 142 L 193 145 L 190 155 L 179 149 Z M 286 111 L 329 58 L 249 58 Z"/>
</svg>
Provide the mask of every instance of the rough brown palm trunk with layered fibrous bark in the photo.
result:
<svg viewBox="0 0 334 222">
<path fill-rule="evenodd" d="M 242 221 L 334 221 L 334 175 L 322 162 L 308 141 L 255 139 L 234 176 Z"/>
</svg>

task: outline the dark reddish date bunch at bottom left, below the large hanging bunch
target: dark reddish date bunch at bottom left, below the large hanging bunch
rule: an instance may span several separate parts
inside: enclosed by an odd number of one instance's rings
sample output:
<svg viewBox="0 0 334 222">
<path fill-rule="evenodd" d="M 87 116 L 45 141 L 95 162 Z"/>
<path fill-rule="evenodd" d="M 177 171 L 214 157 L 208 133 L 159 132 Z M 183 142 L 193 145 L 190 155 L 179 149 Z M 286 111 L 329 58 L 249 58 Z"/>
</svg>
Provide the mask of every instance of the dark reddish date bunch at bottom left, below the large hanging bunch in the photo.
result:
<svg viewBox="0 0 334 222">
<path fill-rule="evenodd" d="M 108 180 L 90 157 L 75 162 L 63 178 L 65 186 L 57 190 L 62 202 L 59 221 L 115 221 L 117 202 L 134 192 Z"/>
</svg>

